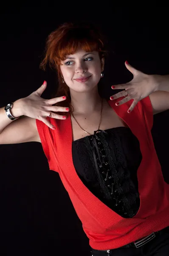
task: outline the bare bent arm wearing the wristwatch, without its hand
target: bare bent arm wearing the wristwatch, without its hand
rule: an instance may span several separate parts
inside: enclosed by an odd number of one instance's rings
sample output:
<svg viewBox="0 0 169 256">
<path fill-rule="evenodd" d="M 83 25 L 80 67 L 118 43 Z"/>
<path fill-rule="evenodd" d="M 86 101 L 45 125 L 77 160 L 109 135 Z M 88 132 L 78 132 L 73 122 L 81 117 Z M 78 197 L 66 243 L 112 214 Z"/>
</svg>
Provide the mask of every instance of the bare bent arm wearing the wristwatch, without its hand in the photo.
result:
<svg viewBox="0 0 169 256">
<path fill-rule="evenodd" d="M 11 113 L 13 116 L 20 116 L 21 101 L 13 104 Z M 21 116 L 17 120 L 10 120 L 4 108 L 0 108 L 0 144 L 15 144 L 37 141 L 41 142 L 37 131 L 36 119 Z"/>
</svg>

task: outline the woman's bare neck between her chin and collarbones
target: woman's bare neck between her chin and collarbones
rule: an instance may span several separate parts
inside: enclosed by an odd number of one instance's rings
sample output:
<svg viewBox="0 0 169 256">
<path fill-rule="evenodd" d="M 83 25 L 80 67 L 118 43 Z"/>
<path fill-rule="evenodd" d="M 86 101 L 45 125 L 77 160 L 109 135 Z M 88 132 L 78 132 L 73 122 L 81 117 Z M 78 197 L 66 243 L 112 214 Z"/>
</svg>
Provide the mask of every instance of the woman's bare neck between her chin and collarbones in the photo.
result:
<svg viewBox="0 0 169 256">
<path fill-rule="evenodd" d="M 90 92 L 75 92 L 70 90 L 71 105 L 70 110 L 74 114 L 91 114 L 94 111 L 100 111 L 101 97 L 99 96 L 97 88 Z"/>
</svg>

